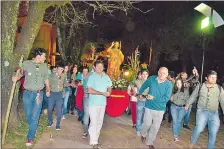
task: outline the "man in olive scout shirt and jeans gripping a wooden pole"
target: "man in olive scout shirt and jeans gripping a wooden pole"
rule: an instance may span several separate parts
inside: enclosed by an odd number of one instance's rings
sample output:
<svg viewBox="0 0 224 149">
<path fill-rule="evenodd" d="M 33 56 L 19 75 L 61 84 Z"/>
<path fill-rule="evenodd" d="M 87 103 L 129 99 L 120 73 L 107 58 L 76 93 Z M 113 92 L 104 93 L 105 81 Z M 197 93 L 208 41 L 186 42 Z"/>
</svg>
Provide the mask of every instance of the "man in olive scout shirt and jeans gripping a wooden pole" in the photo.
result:
<svg viewBox="0 0 224 149">
<path fill-rule="evenodd" d="M 22 63 L 19 76 L 13 76 L 12 81 L 18 81 L 25 76 L 23 92 L 23 108 L 28 122 L 29 130 L 27 134 L 26 146 L 32 146 L 38 127 L 42 102 L 43 88 L 46 85 L 46 95 L 50 95 L 48 68 L 44 63 L 46 60 L 46 50 L 42 48 L 34 49 L 34 57 Z"/>
</svg>

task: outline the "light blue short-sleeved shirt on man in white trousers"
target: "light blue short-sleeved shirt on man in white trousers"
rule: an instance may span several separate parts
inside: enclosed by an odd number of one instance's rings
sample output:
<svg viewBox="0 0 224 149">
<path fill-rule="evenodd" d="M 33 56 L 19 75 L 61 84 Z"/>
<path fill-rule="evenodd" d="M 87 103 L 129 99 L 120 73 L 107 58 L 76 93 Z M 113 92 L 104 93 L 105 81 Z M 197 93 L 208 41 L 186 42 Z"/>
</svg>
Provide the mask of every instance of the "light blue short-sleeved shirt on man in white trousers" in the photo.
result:
<svg viewBox="0 0 224 149">
<path fill-rule="evenodd" d="M 105 73 L 100 76 L 93 72 L 87 81 L 87 87 L 92 88 L 99 92 L 107 92 L 107 89 L 112 86 L 112 81 Z M 106 105 L 107 98 L 103 95 L 89 94 L 89 105 L 91 106 L 104 106 Z"/>
</svg>

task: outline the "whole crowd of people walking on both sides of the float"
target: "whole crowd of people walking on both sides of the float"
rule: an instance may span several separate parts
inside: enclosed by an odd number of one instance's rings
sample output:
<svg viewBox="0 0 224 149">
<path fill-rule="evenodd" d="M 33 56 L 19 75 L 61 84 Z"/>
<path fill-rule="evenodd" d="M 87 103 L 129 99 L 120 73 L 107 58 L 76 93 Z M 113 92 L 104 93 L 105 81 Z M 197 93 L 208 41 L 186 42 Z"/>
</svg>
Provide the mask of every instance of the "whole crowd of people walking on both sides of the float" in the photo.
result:
<svg viewBox="0 0 224 149">
<path fill-rule="evenodd" d="M 78 72 L 78 66 L 57 63 L 56 67 L 47 66 L 46 51 L 42 48 L 34 50 L 32 60 L 24 61 L 20 75 L 14 76 L 16 82 L 25 76 L 23 85 L 23 107 L 29 125 L 27 146 L 33 145 L 38 120 L 43 113 L 48 115 L 47 127 L 52 127 L 53 111 L 56 110 L 56 130 L 60 130 L 60 122 L 66 114 L 77 115 L 83 124 L 83 138 L 88 138 L 93 148 L 99 148 L 100 130 L 106 108 L 106 98 L 110 96 L 112 81 L 104 72 L 102 61 L 96 60 L 89 72 L 87 67 Z M 188 125 L 192 104 L 197 101 L 196 125 L 192 132 L 191 144 L 196 144 L 200 133 L 208 126 L 208 148 L 215 147 L 216 135 L 220 120 L 219 104 L 224 110 L 224 91 L 216 83 L 217 73 L 209 71 L 204 83 L 199 83 L 196 68 L 188 77 L 182 72 L 175 77 L 166 67 L 161 67 L 158 75 L 149 77 L 147 69 L 142 69 L 136 81 L 130 82 L 130 95 L 133 128 L 142 142 L 153 149 L 153 142 L 160 125 L 168 115 L 172 123 L 174 141 L 179 141 L 179 130 Z"/>
</svg>

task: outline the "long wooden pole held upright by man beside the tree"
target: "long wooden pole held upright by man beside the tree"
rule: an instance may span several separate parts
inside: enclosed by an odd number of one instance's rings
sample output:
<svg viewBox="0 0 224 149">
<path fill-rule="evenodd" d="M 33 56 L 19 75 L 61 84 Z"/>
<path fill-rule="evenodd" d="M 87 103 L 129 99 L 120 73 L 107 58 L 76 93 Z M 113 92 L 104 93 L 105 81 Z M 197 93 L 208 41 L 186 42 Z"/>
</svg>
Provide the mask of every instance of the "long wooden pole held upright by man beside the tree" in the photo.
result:
<svg viewBox="0 0 224 149">
<path fill-rule="evenodd" d="M 23 55 L 21 56 L 20 63 L 22 61 L 23 61 Z M 20 69 L 18 69 L 16 71 L 16 77 L 18 77 L 19 73 L 20 73 Z M 5 136 L 6 136 L 6 131 L 7 131 L 7 128 L 8 128 L 9 115 L 10 115 L 10 111 L 11 111 L 11 107 L 12 107 L 12 99 L 13 99 L 15 88 L 16 88 L 16 82 L 13 82 L 11 92 L 10 92 L 10 96 L 9 96 L 8 108 L 7 108 L 6 116 L 5 116 L 5 125 L 4 125 L 4 129 L 3 129 L 3 133 L 2 133 L 2 145 L 5 144 Z"/>
</svg>

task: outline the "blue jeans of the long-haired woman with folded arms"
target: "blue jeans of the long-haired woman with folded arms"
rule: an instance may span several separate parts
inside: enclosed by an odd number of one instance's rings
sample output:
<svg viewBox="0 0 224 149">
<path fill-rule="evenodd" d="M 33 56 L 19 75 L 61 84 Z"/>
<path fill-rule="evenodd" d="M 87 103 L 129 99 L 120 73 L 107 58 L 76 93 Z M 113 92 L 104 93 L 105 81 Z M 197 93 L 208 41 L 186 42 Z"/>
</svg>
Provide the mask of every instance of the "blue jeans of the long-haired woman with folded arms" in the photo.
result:
<svg viewBox="0 0 224 149">
<path fill-rule="evenodd" d="M 173 118 L 173 136 L 178 137 L 179 130 L 181 127 L 181 122 L 188 111 L 184 107 L 178 107 L 174 104 L 171 104 L 171 114 Z"/>
</svg>

